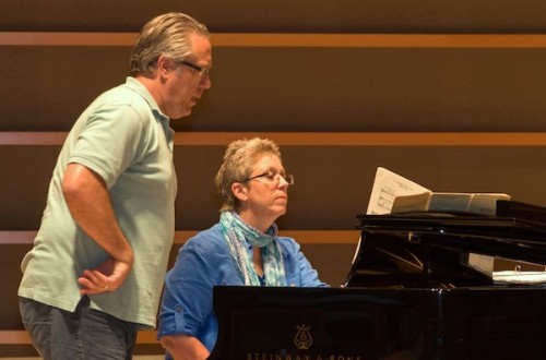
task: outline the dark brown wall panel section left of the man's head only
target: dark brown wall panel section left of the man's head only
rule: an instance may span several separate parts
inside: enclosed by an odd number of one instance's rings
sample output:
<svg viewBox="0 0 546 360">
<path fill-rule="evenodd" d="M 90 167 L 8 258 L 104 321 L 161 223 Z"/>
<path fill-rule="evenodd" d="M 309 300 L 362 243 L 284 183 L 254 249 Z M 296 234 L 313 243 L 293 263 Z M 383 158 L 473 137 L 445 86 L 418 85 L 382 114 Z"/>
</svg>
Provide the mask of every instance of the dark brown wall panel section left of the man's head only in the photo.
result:
<svg viewBox="0 0 546 360">
<path fill-rule="evenodd" d="M 69 130 L 104 91 L 124 82 L 130 48 L 3 47 L 0 131 Z"/>
</svg>

